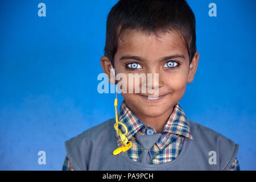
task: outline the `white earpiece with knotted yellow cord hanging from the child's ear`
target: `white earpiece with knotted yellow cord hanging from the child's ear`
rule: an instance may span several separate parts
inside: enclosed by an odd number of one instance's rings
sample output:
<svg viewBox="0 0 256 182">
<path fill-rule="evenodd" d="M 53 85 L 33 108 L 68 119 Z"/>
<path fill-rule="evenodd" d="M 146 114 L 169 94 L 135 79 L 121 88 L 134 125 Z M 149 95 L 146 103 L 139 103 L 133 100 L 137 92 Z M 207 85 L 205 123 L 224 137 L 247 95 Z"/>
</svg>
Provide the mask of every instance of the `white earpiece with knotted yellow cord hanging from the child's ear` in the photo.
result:
<svg viewBox="0 0 256 182">
<path fill-rule="evenodd" d="M 111 65 L 112 67 L 112 65 Z M 112 71 L 113 71 L 113 67 L 112 67 Z M 115 76 L 115 73 L 113 71 L 113 74 Z M 117 92 L 115 92 L 115 102 L 114 102 L 114 106 L 115 106 L 115 124 L 114 124 L 114 128 L 115 131 L 117 131 L 117 135 L 119 136 L 121 143 L 123 144 L 121 147 L 118 147 L 117 149 L 115 149 L 113 151 L 114 155 L 118 155 L 120 154 L 120 152 L 125 152 L 127 150 L 129 150 L 131 148 L 131 141 L 128 141 L 128 139 L 126 138 L 126 134 L 127 134 L 127 127 L 125 125 L 123 125 L 123 123 L 118 121 L 118 115 L 117 115 Z M 125 129 L 125 133 L 122 133 L 121 130 L 118 129 L 118 124 L 122 125 L 123 128 Z"/>
</svg>

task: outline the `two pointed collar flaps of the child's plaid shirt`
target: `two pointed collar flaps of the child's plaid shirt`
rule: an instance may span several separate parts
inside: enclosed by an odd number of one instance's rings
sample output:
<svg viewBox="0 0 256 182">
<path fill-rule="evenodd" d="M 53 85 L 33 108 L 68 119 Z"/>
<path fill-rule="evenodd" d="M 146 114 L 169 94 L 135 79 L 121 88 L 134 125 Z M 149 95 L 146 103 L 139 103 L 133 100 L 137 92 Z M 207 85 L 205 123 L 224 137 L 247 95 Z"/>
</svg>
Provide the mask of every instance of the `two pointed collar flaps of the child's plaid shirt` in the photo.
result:
<svg viewBox="0 0 256 182">
<path fill-rule="evenodd" d="M 139 120 L 139 118 L 137 118 L 133 112 L 131 112 L 131 110 L 126 106 L 125 101 L 122 102 L 119 109 L 118 121 L 122 122 L 127 127 L 126 137 L 128 140 L 130 140 L 131 137 L 133 137 L 133 135 L 143 127 L 148 127 L 141 120 Z M 184 137 L 193 139 L 188 126 L 188 118 L 181 109 L 179 102 L 174 106 L 174 110 L 166 122 L 163 132 L 183 135 Z"/>
</svg>

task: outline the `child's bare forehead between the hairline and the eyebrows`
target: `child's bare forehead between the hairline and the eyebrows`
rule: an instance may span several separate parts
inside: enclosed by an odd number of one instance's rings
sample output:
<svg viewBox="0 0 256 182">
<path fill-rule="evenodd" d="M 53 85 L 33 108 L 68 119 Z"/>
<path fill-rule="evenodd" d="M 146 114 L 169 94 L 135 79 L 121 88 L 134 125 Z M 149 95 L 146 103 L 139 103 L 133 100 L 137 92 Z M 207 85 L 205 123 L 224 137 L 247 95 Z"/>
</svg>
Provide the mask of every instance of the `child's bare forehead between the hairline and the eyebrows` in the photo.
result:
<svg viewBox="0 0 256 182">
<path fill-rule="evenodd" d="M 146 34 L 138 30 L 126 30 L 118 38 L 117 57 L 124 54 L 142 56 L 145 59 L 172 54 L 184 55 L 188 58 L 188 51 L 182 36 L 176 31 Z"/>
</svg>

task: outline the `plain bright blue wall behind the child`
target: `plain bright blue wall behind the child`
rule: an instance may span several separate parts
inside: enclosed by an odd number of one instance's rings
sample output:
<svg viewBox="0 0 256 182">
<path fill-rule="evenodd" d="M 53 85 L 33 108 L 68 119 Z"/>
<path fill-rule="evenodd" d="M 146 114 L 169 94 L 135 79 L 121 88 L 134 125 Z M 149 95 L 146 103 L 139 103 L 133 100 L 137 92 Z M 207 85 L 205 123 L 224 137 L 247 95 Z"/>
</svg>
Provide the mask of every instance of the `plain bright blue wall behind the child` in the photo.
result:
<svg viewBox="0 0 256 182">
<path fill-rule="evenodd" d="M 40 2 L 46 17 L 38 16 Z M 97 76 L 116 2 L 0 1 L 1 170 L 60 170 L 65 140 L 114 117 L 115 95 L 97 92 Z M 211 2 L 217 17 L 208 15 Z M 200 60 L 181 107 L 192 121 L 240 144 L 241 169 L 255 170 L 256 3 L 188 3 Z M 40 150 L 46 165 L 38 164 Z"/>
</svg>

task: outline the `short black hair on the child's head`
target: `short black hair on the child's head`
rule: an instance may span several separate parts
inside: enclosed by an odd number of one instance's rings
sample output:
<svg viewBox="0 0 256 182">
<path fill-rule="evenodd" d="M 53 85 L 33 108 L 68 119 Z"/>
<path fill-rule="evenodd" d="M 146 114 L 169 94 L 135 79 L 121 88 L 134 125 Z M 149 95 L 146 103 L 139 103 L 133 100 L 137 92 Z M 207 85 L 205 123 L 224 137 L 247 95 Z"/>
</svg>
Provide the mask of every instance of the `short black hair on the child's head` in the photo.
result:
<svg viewBox="0 0 256 182">
<path fill-rule="evenodd" d="M 118 30 L 119 29 L 119 30 Z M 120 0 L 110 10 L 104 55 L 114 67 L 117 40 L 127 29 L 144 33 L 177 31 L 188 50 L 189 64 L 196 53 L 195 15 L 185 0 Z"/>
</svg>

